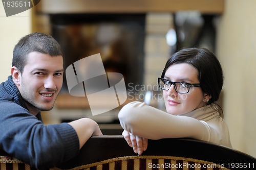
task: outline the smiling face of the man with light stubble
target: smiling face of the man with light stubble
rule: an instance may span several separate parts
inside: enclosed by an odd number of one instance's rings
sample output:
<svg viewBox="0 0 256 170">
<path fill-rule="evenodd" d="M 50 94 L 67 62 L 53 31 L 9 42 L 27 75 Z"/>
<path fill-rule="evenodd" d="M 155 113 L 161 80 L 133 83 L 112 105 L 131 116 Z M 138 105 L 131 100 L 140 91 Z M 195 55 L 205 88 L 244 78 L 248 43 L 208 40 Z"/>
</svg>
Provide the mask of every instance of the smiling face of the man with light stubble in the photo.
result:
<svg viewBox="0 0 256 170">
<path fill-rule="evenodd" d="M 18 89 L 32 114 L 51 110 L 62 86 L 63 58 L 38 52 L 27 57 Z"/>
</svg>

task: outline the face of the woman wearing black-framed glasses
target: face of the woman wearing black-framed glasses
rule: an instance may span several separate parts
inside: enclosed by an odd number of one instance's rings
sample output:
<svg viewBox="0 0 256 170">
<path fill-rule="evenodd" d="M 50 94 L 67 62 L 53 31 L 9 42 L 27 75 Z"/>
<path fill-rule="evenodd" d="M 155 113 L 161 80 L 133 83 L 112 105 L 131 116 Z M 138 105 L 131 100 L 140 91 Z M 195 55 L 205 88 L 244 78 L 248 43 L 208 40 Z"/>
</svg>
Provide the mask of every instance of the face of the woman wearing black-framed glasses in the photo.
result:
<svg viewBox="0 0 256 170">
<path fill-rule="evenodd" d="M 187 63 L 170 65 L 164 78 L 172 82 L 200 83 L 198 70 Z M 204 106 L 204 93 L 200 87 L 190 87 L 188 93 L 181 94 L 175 91 L 174 85 L 169 90 L 163 90 L 163 98 L 167 113 L 180 115 Z"/>
</svg>

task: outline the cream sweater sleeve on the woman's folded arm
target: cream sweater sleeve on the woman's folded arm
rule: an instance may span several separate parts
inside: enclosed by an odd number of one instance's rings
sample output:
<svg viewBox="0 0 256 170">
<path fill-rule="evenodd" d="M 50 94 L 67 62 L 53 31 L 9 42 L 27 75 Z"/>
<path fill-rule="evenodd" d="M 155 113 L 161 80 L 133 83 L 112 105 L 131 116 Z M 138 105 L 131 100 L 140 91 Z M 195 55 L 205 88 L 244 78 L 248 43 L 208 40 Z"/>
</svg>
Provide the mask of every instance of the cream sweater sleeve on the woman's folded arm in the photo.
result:
<svg viewBox="0 0 256 170">
<path fill-rule="evenodd" d="M 124 130 L 147 139 L 190 137 L 207 140 L 209 138 L 208 129 L 199 120 L 168 114 L 141 102 L 125 105 L 118 117 Z"/>
</svg>

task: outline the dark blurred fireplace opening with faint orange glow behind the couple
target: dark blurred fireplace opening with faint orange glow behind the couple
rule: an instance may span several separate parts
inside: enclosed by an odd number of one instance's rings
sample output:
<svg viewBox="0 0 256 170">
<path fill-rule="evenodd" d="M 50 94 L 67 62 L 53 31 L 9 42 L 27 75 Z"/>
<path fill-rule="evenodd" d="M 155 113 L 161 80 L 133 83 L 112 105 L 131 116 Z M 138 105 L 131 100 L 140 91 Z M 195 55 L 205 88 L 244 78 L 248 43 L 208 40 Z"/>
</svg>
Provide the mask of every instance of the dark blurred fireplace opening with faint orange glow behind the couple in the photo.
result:
<svg viewBox="0 0 256 170">
<path fill-rule="evenodd" d="M 65 70 L 100 53 L 105 71 L 122 74 L 126 87 L 143 83 L 145 14 L 51 14 L 50 22 Z M 68 92 L 66 75 L 61 92 Z"/>
</svg>

